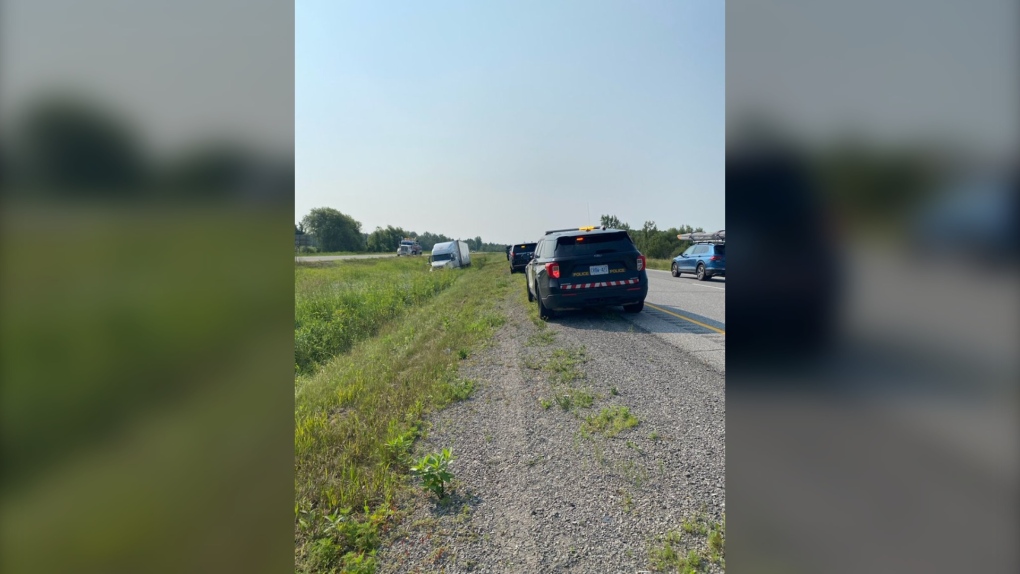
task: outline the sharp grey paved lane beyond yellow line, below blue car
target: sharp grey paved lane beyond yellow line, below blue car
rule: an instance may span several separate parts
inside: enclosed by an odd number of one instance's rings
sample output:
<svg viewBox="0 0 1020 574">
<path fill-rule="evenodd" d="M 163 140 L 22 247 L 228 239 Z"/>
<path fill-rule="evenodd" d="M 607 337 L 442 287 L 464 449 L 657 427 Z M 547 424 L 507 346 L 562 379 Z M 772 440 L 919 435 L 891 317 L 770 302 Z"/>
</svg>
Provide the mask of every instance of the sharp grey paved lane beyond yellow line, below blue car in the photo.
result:
<svg viewBox="0 0 1020 574">
<path fill-rule="evenodd" d="M 692 319 L 707 318 L 713 324 L 725 326 L 726 284 L 719 279 L 699 281 L 687 275 L 674 277 L 669 271 L 649 269 L 645 303 L 679 314 L 685 311 Z"/>
</svg>

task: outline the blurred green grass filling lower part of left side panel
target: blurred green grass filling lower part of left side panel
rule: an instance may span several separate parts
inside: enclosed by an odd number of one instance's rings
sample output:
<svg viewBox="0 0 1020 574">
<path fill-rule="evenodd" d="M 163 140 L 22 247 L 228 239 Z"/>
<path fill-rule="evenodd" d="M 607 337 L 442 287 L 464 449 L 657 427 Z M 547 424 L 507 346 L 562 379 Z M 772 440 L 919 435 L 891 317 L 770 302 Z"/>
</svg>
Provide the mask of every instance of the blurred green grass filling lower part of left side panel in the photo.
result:
<svg viewBox="0 0 1020 574">
<path fill-rule="evenodd" d="M 4 206 L 0 571 L 290 568 L 279 215 Z"/>
</svg>

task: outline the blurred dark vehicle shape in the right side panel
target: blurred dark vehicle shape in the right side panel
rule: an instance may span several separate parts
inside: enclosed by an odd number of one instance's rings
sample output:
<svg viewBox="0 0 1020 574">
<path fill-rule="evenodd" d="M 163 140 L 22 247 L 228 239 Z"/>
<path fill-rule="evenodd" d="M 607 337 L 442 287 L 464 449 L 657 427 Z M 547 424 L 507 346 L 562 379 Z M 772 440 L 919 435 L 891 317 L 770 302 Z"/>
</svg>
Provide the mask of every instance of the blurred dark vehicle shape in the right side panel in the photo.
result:
<svg viewBox="0 0 1020 574">
<path fill-rule="evenodd" d="M 726 152 L 726 243 L 735 246 L 726 368 L 737 373 L 727 387 L 759 380 L 766 364 L 818 358 L 836 341 L 843 250 L 816 177 L 795 152 Z"/>
</svg>

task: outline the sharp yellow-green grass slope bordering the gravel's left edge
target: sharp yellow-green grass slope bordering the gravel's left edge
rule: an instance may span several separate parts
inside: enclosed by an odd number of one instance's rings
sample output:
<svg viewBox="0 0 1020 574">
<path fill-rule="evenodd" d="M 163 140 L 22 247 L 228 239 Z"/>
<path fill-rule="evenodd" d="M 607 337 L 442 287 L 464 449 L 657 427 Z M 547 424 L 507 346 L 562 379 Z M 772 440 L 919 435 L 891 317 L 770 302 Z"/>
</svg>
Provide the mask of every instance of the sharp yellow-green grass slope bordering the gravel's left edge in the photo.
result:
<svg viewBox="0 0 1020 574">
<path fill-rule="evenodd" d="M 500 255 L 490 256 L 499 258 Z M 503 266 L 475 255 L 466 269 L 431 273 L 450 281 L 389 323 L 365 331 L 295 388 L 295 567 L 298 572 L 371 572 L 395 494 L 423 416 L 470 396 L 461 360 L 506 321 L 510 281 Z M 366 262 L 354 292 L 392 284 L 412 260 Z M 306 277 L 307 279 L 307 277 Z M 322 279 L 299 278 L 299 292 Z M 413 282 L 413 281 L 412 281 Z M 298 294 L 301 298 L 301 294 Z M 401 301 L 389 299 L 389 301 Z M 402 300 L 406 303 L 407 299 Z M 381 309 L 388 309 L 382 305 Z"/>
</svg>

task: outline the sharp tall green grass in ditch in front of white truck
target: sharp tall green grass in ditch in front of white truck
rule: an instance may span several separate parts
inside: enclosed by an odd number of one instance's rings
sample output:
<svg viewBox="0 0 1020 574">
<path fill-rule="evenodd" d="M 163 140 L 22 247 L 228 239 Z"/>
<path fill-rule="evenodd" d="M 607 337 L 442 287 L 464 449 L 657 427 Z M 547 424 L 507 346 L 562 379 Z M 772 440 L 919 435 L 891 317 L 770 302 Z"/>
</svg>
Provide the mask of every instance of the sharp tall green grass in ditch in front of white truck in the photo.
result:
<svg viewBox="0 0 1020 574">
<path fill-rule="evenodd" d="M 298 263 L 295 270 L 294 363 L 299 373 L 354 344 L 410 307 L 449 288 L 458 273 L 431 272 L 423 259 Z"/>
</svg>

